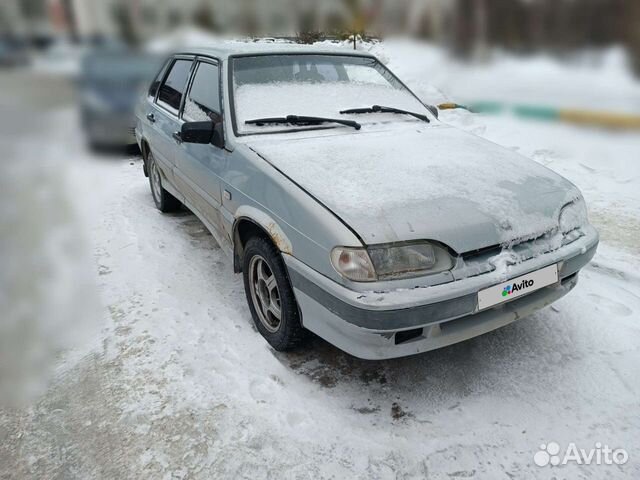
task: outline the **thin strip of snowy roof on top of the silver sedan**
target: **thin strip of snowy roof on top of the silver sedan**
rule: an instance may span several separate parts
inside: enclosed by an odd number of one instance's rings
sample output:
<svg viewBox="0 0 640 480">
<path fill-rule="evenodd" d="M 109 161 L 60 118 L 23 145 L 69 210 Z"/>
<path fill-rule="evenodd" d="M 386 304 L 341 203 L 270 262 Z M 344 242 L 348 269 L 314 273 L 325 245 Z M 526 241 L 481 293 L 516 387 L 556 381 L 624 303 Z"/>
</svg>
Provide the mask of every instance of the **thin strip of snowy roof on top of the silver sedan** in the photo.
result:
<svg viewBox="0 0 640 480">
<path fill-rule="evenodd" d="M 248 42 L 220 42 L 215 45 L 199 48 L 183 48 L 175 52 L 177 55 L 202 55 L 226 60 L 229 57 L 241 55 L 286 55 L 307 53 L 310 55 L 345 55 L 357 57 L 373 57 L 368 52 L 349 50 L 336 45 L 299 45 L 288 43 L 248 43 Z"/>
</svg>

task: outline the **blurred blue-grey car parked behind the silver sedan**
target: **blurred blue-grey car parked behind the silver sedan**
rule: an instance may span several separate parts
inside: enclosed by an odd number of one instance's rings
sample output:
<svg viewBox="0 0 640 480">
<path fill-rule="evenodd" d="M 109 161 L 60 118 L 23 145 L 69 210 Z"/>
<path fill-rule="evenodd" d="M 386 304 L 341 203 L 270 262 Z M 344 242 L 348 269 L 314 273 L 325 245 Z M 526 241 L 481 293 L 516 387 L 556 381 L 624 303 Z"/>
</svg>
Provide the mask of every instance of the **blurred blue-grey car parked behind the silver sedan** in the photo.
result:
<svg viewBox="0 0 640 480">
<path fill-rule="evenodd" d="M 94 50 L 81 64 L 78 101 L 94 149 L 135 145 L 134 107 L 162 59 L 123 50 Z"/>
</svg>

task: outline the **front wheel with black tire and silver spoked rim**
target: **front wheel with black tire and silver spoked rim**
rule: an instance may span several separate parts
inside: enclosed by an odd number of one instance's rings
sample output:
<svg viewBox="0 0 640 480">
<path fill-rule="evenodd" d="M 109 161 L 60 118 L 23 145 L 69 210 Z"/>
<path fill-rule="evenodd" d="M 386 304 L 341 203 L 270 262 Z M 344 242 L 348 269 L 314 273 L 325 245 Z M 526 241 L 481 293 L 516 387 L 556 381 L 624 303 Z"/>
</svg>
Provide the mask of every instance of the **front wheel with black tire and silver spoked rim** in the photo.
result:
<svg viewBox="0 0 640 480">
<path fill-rule="evenodd" d="M 265 238 L 251 238 L 244 249 L 242 272 L 251 316 L 260 334 L 279 352 L 300 346 L 305 330 L 278 249 Z"/>
</svg>

